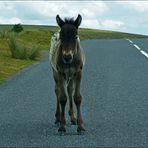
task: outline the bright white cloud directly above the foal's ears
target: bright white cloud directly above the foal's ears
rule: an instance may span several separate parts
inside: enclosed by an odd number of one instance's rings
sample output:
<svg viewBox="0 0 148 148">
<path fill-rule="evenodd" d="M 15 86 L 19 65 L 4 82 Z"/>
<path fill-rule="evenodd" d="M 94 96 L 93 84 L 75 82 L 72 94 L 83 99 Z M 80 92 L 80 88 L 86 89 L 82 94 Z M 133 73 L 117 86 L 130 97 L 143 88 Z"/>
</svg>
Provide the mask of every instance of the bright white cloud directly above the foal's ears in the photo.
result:
<svg viewBox="0 0 148 148">
<path fill-rule="evenodd" d="M 55 16 L 57 13 L 62 16 L 75 16 L 80 13 L 85 18 L 101 15 L 108 9 L 103 1 L 39 1 L 33 3 L 32 7 L 45 16 Z"/>
</svg>

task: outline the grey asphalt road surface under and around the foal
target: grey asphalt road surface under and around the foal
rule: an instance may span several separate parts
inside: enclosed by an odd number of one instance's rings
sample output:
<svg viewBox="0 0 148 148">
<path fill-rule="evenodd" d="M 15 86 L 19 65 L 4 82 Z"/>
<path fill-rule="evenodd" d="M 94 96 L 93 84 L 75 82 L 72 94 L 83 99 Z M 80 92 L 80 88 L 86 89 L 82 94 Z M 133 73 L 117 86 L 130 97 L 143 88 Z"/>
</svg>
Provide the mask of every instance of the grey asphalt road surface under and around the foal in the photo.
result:
<svg viewBox="0 0 148 148">
<path fill-rule="evenodd" d="M 148 53 L 148 39 L 91 40 L 82 46 L 86 133 L 77 135 L 70 124 L 67 103 L 67 132 L 58 134 L 46 57 L 0 85 L 1 147 L 148 147 L 148 58 L 141 52 Z"/>
</svg>

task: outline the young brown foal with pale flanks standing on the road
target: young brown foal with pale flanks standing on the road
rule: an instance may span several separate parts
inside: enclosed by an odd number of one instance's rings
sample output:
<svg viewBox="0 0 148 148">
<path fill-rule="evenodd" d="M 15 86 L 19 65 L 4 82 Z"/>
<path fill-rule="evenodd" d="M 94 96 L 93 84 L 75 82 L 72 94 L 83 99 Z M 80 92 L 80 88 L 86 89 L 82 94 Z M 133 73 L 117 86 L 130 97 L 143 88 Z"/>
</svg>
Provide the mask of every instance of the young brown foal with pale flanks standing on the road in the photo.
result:
<svg viewBox="0 0 148 148">
<path fill-rule="evenodd" d="M 56 16 L 60 31 L 51 39 L 49 52 L 50 62 L 55 80 L 55 94 L 57 96 L 57 109 L 55 123 L 60 123 L 59 132 L 66 132 L 65 105 L 69 98 L 69 115 L 71 123 L 78 125 L 77 131 L 85 131 L 80 111 L 82 96 L 80 94 L 80 82 L 82 69 L 85 63 L 85 55 L 80 47 L 78 27 L 82 17 L 78 15 L 76 20 L 65 18 L 62 20 Z M 77 120 L 74 117 L 73 100 L 77 108 Z"/>
</svg>

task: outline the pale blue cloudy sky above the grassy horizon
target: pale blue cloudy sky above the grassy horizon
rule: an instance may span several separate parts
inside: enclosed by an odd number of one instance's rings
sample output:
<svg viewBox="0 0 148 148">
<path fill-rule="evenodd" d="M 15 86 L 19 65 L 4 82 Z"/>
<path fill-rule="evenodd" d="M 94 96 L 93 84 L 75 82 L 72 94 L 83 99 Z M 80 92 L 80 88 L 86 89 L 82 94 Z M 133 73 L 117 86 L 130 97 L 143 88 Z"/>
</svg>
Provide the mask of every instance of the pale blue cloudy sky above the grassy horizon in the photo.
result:
<svg viewBox="0 0 148 148">
<path fill-rule="evenodd" d="M 0 24 L 57 25 L 82 15 L 83 28 L 148 35 L 148 1 L 0 1 Z"/>
</svg>

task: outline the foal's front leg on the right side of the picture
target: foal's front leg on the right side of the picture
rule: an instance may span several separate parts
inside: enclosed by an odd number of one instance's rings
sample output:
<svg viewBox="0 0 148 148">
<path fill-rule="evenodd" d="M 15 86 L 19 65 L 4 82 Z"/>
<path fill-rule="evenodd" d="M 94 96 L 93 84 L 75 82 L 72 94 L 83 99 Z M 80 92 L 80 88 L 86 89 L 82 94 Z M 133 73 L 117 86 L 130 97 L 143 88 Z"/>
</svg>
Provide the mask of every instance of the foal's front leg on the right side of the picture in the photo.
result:
<svg viewBox="0 0 148 148">
<path fill-rule="evenodd" d="M 82 120 L 81 109 L 80 109 L 81 102 L 82 102 L 82 96 L 80 94 L 81 75 L 82 75 L 82 71 L 78 72 L 75 77 L 74 102 L 77 108 L 77 124 L 78 124 L 77 132 L 85 131 L 83 127 L 83 120 Z"/>
</svg>

